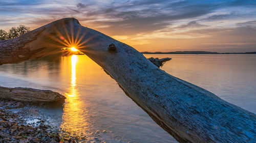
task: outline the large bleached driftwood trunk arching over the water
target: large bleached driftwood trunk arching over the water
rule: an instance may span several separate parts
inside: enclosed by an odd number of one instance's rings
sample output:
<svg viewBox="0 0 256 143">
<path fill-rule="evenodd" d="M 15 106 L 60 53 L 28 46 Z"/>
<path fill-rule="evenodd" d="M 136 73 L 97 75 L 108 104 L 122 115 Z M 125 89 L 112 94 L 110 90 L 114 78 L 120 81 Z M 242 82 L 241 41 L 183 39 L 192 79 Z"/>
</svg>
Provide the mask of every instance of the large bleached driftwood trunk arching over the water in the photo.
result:
<svg viewBox="0 0 256 143">
<path fill-rule="evenodd" d="M 70 36 L 70 41 L 72 37 L 80 38 L 79 50 L 178 141 L 256 142 L 254 113 L 167 74 L 131 46 L 83 27 L 74 18 L 60 19 L 19 38 L 0 41 L 0 63 L 49 54 L 59 48 L 55 45 L 63 46 L 61 37 Z"/>
</svg>

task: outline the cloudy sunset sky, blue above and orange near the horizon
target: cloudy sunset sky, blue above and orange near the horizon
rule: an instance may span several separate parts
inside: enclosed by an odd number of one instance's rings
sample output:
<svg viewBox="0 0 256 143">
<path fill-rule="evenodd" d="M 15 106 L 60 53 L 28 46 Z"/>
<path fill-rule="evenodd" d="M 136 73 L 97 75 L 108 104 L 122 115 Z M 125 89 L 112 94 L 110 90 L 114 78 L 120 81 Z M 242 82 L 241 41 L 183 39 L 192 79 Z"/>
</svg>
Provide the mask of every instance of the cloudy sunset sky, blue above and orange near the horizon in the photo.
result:
<svg viewBox="0 0 256 143">
<path fill-rule="evenodd" d="M 138 51 L 256 51 L 256 0 L 0 0 L 0 29 L 74 17 Z"/>
</svg>

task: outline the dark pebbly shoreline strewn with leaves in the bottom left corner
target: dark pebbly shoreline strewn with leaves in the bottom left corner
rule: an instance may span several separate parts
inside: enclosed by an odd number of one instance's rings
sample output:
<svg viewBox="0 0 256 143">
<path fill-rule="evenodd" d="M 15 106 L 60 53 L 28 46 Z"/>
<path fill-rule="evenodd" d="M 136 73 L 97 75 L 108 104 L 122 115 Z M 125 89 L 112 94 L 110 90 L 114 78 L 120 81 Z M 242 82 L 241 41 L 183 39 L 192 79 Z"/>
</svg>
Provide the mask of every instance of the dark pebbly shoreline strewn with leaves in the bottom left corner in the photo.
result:
<svg viewBox="0 0 256 143">
<path fill-rule="evenodd" d="M 77 142 L 45 120 L 38 118 L 36 123 L 28 123 L 24 115 L 37 113 L 36 109 L 19 110 L 31 103 L 0 99 L 0 142 L 40 143 Z M 17 109 L 18 111 L 14 111 Z"/>
</svg>

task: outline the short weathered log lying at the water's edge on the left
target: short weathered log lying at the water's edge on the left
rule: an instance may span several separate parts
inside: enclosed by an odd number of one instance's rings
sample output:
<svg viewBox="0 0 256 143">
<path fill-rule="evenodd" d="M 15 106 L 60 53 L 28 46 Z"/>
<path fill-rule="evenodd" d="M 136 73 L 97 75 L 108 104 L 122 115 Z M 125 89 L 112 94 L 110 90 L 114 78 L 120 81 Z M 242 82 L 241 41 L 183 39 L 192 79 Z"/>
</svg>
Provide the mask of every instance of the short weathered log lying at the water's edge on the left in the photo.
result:
<svg viewBox="0 0 256 143">
<path fill-rule="evenodd" d="M 0 86 L 0 98 L 25 102 L 59 102 L 64 103 L 66 97 L 50 91 L 31 88 L 6 88 Z"/>
</svg>

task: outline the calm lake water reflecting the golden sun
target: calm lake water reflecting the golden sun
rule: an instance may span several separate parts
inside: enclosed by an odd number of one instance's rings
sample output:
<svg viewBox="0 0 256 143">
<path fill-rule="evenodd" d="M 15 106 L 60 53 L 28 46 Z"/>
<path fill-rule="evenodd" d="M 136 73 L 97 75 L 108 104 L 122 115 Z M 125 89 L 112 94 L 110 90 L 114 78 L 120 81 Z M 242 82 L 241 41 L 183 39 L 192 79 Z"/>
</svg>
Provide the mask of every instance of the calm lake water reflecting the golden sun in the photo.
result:
<svg viewBox="0 0 256 143">
<path fill-rule="evenodd" d="M 256 113 L 256 54 L 146 54 L 169 57 L 161 69 Z M 84 142 L 177 142 L 86 55 L 0 66 L 0 85 L 47 89 L 67 97 L 42 108 L 49 121 Z"/>
</svg>

